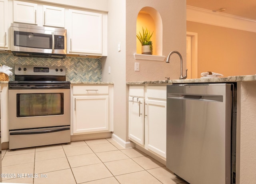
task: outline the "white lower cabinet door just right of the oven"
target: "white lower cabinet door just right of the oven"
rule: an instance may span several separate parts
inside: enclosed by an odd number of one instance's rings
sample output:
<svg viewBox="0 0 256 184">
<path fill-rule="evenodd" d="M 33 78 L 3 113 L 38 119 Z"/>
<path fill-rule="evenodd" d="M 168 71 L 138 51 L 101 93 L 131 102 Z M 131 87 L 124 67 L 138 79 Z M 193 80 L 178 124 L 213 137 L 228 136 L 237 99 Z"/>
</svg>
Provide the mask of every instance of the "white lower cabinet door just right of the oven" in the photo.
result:
<svg viewBox="0 0 256 184">
<path fill-rule="evenodd" d="M 73 107 L 73 133 L 109 129 L 108 96 L 74 96 Z"/>
</svg>

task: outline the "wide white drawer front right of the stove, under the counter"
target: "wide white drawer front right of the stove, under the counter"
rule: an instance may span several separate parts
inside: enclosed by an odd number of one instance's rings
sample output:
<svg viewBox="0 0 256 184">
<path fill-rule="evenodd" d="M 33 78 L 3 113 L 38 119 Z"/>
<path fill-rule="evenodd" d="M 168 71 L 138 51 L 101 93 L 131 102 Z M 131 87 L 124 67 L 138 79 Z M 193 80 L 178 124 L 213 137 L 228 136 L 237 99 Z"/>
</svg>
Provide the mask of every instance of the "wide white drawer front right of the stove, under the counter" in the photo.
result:
<svg viewBox="0 0 256 184">
<path fill-rule="evenodd" d="M 73 86 L 73 94 L 108 94 L 108 86 Z"/>
</svg>

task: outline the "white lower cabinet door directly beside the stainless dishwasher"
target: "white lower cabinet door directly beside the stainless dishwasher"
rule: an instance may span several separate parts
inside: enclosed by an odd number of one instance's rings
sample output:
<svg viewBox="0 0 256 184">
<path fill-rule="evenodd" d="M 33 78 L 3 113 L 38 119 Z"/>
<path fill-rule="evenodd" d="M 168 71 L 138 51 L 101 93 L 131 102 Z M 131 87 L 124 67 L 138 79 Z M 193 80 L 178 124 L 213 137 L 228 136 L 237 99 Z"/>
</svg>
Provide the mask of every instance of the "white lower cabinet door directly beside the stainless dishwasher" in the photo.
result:
<svg viewBox="0 0 256 184">
<path fill-rule="evenodd" d="M 146 100 L 145 146 L 166 158 L 166 101 Z"/>
</svg>

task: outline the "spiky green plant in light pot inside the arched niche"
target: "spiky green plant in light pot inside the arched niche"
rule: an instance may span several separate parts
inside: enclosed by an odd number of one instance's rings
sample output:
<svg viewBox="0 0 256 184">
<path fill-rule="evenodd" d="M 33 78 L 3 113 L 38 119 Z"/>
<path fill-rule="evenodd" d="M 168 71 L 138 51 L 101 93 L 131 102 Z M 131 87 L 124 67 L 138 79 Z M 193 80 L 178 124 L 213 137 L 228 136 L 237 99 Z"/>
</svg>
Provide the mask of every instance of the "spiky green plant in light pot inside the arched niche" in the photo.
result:
<svg viewBox="0 0 256 184">
<path fill-rule="evenodd" d="M 140 33 L 140 32 L 139 32 Z M 152 32 L 153 34 L 153 32 Z M 142 49 L 141 53 L 142 54 L 151 54 L 153 52 L 153 46 L 152 46 L 152 41 L 150 40 L 152 37 L 152 34 L 150 34 L 150 31 L 146 28 L 144 29 L 142 27 L 142 34 L 137 34 L 137 38 L 140 40 Z"/>
</svg>

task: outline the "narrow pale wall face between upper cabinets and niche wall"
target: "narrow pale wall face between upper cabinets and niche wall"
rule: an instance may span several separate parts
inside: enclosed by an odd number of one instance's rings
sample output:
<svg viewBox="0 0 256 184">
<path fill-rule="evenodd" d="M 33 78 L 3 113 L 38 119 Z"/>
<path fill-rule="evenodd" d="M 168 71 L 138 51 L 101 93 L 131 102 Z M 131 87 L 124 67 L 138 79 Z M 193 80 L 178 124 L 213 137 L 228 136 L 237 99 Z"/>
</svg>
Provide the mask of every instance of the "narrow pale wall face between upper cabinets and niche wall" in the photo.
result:
<svg viewBox="0 0 256 184">
<path fill-rule="evenodd" d="M 108 0 L 108 56 L 102 58 L 102 82 L 114 82 L 114 134 L 122 140 L 126 140 L 125 6 L 125 0 Z"/>
</svg>

